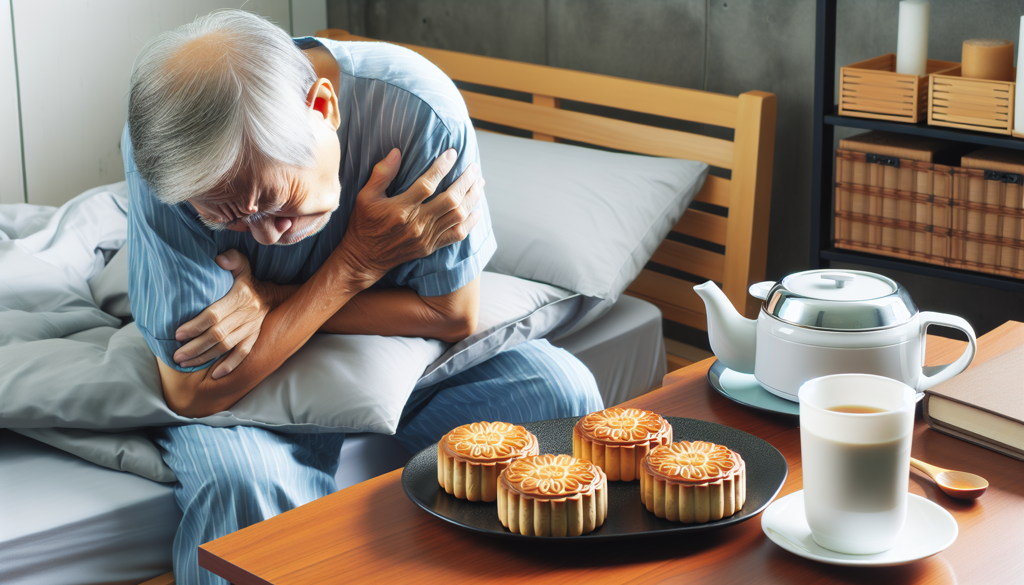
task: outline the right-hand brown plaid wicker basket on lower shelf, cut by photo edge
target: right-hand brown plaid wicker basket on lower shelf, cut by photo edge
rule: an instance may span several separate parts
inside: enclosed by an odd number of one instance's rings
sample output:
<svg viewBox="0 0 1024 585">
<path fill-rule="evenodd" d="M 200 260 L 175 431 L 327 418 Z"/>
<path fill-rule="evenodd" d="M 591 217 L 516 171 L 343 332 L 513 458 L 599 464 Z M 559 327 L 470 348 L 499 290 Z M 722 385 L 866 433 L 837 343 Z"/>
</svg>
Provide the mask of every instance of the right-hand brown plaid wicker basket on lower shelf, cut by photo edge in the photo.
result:
<svg viewBox="0 0 1024 585">
<path fill-rule="evenodd" d="M 983 149 L 953 173 L 956 267 L 1024 278 L 1024 153 Z"/>
</svg>

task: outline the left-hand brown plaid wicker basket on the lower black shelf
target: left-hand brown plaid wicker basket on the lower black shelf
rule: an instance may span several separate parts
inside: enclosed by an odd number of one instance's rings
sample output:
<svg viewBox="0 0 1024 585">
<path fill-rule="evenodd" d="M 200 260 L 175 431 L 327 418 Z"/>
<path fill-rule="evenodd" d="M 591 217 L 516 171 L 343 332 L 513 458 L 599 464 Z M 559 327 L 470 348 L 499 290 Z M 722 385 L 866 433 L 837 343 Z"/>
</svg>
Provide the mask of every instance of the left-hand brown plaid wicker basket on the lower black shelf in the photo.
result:
<svg viewBox="0 0 1024 585">
<path fill-rule="evenodd" d="M 955 143 L 885 132 L 840 141 L 837 248 L 946 264 L 953 167 L 934 161 Z"/>
</svg>

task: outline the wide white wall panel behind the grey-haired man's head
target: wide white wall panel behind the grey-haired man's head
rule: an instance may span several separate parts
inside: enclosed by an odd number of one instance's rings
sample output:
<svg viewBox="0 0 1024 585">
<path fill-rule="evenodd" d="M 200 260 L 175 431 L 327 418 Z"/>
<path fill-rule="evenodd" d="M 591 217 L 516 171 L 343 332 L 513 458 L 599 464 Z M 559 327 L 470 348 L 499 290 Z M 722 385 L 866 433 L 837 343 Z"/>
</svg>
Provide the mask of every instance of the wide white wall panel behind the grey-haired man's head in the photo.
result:
<svg viewBox="0 0 1024 585">
<path fill-rule="evenodd" d="M 60 205 L 83 191 L 124 179 L 119 140 L 135 55 L 162 31 L 216 8 L 243 4 L 242 0 L 0 0 L 0 8 L 8 1 L 14 8 L 28 202 L 38 205 Z M 248 0 L 245 9 L 291 31 L 289 0 Z M 0 17 L 0 28 L 3 22 Z M 0 31 L 0 45 L 2 35 Z M 6 87 L 2 50 L 0 116 Z M 6 135 L 3 124 L 0 118 L 0 133 Z M 5 167 L 0 172 L 2 190 Z"/>
</svg>

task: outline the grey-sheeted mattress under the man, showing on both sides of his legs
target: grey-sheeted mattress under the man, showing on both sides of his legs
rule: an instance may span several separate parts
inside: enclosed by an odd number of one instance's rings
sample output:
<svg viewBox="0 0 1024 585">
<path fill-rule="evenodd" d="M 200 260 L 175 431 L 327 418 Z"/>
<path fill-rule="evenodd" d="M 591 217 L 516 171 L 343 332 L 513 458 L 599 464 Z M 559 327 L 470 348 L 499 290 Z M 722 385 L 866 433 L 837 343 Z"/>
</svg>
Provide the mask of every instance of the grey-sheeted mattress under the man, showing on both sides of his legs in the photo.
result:
<svg viewBox="0 0 1024 585">
<path fill-rule="evenodd" d="M 553 342 L 594 373 L 605 404 L 646 392 L 665 376 L 662 312 L 624 296 L 586 329 Z M 349 435 L 339 489 L 404 465 L 393 436 Z M 140 583 L 171 570 L 181 512 L 170 485 L 105 469 L 0 430 L 0 582 Z"/>
</svg>

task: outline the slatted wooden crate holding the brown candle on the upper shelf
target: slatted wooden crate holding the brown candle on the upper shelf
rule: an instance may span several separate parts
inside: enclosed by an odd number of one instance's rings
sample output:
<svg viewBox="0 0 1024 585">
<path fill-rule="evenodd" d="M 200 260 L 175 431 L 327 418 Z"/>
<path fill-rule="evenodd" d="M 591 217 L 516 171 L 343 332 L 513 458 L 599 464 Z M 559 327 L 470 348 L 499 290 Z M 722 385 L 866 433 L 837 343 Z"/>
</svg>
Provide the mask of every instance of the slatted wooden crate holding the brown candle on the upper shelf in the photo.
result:
<svg viewBox="0 0 1024 585">
<path fill-rule="evenodd" d="M 930 76 L 928 124 L 1012 134 L 1014 82 L 965 79 L 959 66 Z"/>
</svg>

